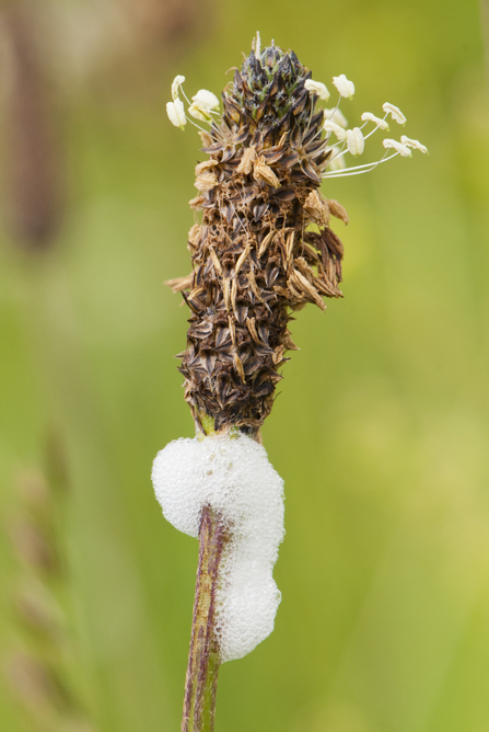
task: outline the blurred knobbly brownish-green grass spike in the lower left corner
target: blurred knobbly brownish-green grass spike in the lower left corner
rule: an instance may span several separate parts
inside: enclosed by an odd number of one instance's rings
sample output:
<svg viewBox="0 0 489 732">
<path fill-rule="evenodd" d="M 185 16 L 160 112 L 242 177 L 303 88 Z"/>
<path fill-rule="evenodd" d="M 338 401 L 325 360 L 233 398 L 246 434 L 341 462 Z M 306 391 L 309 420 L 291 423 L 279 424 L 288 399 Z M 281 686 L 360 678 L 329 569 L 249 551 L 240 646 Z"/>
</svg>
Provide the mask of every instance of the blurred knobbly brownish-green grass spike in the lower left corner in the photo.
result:
<svg viewBox="0 0 489 732">
<path fill-rule="evenodd" d="M 35 470 L 24 471 L 18 479 L 22 506 L 10 534 L 21 561 L 12 608 L 28 651 L 14 653 L 5 673 L 35 729 L 95 732 L 68 674 L 70 634 L 61 598 L 69 586 L 69 573 L 63 561 L 60 511 L 68 477 L 58 433 L 49 433 L 46 453 L 48 480 Z"/>
</svg>

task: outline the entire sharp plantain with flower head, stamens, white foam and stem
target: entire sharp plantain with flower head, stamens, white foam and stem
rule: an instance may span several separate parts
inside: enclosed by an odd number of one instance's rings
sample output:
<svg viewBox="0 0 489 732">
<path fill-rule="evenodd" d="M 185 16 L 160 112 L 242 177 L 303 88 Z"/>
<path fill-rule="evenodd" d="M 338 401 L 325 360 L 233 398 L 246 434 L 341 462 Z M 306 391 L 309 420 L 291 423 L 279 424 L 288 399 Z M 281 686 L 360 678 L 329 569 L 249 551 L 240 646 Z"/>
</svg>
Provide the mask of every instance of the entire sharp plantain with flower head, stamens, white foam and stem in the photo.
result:
<svg viewBox="0 0 489 732">
<path fill-rule="evenodd" d="M 334 77 L 340 98 L 335 108 L 324 110 L 321 101 L 329 92 L 311 76 L 293 52 L 273 42 L 261 48 L 257 33 L 252 53 L 224 87 L 220 108 L 203 89 L 190 102 L 184 77 L 175 78 L 166 107 L 172 124 L 199 128 L 205 156 L 195 169 L 198 193 L 189 202 L 201 211 L 187 237 L 191 272 L 166 283 L 191 311 L 177 358 L 197 436 L 162 450 L 153 469 L 166 518 L 199 536 L 183 732 L 213 728 L 219 665 L 242 657 L 271 632 L 280 602 L 271 570 L 283 536 L 281 481 L 261 458 L 251 472 L 252 457 L 264 457 L 260 428 L 288 352 L 298 350 L 289 331 L 293 313 L 307 302 L 324 311 L 325 298 L 342 297 L 344 245 L 330 224 L 331 217 L 348 224 L 348 214 L 323 194 L 322 181 L 334 187 L 333 179 L 410 157 L 412 148 L 427 152 L 418 140 L 387 138 L 380 160 L 346 168 L 347 155 L 362 155 L 368 138 L 388 128 L 387 115 L 399 124 L 406 117 L 386 103 L 384 118 L 365 112 L 359 126 L 348 128 L 338 106 L 341 98 L 353 96 L 354 84 L 345 75 Z M 374 127 L 363 135 L 368 123 Z M 329 141 L 331 133 L 337 145 Z"/>
</svg>

